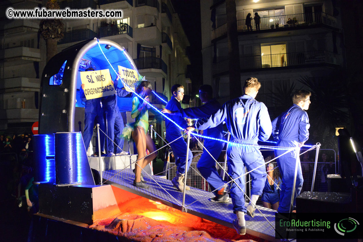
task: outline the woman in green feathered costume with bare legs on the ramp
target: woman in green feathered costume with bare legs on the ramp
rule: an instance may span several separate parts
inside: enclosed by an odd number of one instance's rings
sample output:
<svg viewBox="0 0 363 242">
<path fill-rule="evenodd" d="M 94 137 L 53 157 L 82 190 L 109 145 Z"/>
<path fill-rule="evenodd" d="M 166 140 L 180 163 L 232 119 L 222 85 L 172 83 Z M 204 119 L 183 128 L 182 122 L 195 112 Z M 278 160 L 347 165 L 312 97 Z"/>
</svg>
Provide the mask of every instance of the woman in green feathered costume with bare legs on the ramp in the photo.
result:
<svg viewBox="0 0 363 242">
<path fill-rule="evenodd" d="M 138 157 L 135 165 L 135 180 L 134 186 L 138 188 L 149 188 L 146 185 L 146 182 L 141 177 L 141 168 L 146 167 L 152 160 L 156 158 L 158 155 L 156 151 L 156 146 L 154 141 L 152 141 L 150 135 L 148 134 L 149 128 L 149 108 L 147 105 L 150 102 L 149 95 L 152 91 L 152 87 L 150 82 L 141 81 L 138 83 L 138 86 L 135 88 L 135 92 L 139 94 L 140 97 L 143 97 L 145 101 L 143 101 L 139 97 L 134 97 L 132 99 L 132 110 L 131 110 L 131 118 L 135 119 L 134 123 L 128 123 L 126 127 L 123 129 L 122 136 L 135 141 Z M 152 153 L 151 155 L 146 156 L 146 149 Z"/>
</svg>

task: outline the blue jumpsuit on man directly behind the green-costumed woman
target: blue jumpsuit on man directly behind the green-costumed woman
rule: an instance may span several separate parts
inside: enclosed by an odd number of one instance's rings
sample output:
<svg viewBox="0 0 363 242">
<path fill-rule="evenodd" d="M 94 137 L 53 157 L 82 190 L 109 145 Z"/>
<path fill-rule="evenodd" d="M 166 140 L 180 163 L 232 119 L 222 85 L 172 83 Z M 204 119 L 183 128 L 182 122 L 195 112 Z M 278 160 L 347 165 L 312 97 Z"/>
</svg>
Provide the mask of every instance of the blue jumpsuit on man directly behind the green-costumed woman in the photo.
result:
<svg viewBox="0 0 363 242">
<path fill-rule="evenodd" d="M 171 111 L 178 111 L 181 109 L 180 102 L 175 98 L 172 97 L 170 101 L 165 106 L 166 109 Z M 187 122 L 184 118 L 182 118 L 180 115 L 170 115 L 166 114 L 168 118 L 171 120 L 174 120 L 175 123 L 179 124 L 180 127 L 186 128 L 188 127 Z M 165 126 L 166 126 L 166 140 L 168 142 L 171 142 L 177 138 L 180 137 L 180 129 L 171 121 L 168 119 L 165 119 Z M 180 138 L 178 140 L 175 140 L 173 143 L 169 144 L 172 150 L 174 151 L 174 155 L 178 157 L 175 159 L 176 164 L 176 170 L 179 172 L 179 174 L 185 173 L 185 160 L 187 159 L 187 143 L 185 143 L 183 138 Z M 191 150 L 189 149 L 189 155 L 188 155 L 188 167 L 187 171 L 189 169 L 189 166 L 192 162 L 193 154 Z"/>
</svg>

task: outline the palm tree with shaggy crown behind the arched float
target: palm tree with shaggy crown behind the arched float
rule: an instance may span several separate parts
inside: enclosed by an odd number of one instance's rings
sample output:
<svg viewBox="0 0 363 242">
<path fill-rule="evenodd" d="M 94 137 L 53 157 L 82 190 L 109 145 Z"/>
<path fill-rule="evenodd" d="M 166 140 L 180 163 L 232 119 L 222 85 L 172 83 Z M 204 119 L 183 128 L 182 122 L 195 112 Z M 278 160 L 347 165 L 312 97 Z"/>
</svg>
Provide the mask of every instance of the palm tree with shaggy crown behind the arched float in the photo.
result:
<svg viewBox="0 0 363 242">
<path fill-rule="evenodd" d="M 59 9 L 57 0 L 48 0 L 46 8 Z M 40 21 L 39 33 L 45 40 L 47 62 L 58 53 L 57 42 L 64 37 L 63 29 L 64 24 L 59 19 L 47 19 Z"/>
</svg>

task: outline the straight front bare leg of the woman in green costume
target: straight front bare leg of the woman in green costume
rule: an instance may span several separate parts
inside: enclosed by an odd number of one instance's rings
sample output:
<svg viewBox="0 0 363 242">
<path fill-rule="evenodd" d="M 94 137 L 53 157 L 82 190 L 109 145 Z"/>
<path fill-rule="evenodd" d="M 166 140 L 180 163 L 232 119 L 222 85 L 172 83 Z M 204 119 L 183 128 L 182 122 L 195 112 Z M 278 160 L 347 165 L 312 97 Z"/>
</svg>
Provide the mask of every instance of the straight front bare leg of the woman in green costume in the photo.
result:
<svg viewBox="0 0 363 242">
<path fill-rule="evenodd" d="M 144 156 L 146 156 L 146 139 L 145 139 L 145 131 L 141 126 L 135 127 L 134 131 L 132 131 L 132 139 L 135 141 L 136 149 L 137 149 L 137 159 L 140 159 L 135 164 L 135 182 L 141 182 L 141 167 L 144 163 Z"/>
</svg>

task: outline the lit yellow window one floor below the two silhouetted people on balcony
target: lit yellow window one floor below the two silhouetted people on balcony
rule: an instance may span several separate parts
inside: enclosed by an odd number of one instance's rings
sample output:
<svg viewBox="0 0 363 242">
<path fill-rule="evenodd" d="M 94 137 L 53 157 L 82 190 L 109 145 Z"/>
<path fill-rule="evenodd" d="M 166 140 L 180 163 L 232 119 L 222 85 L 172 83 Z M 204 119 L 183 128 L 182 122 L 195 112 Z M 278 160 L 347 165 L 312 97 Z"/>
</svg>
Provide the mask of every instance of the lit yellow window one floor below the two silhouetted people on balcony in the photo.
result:
<svg viewBox="0 0 363 242">
<path fill-rule="evenodd" d="M 262 68 L 286 66 L 286 44 L 262 44 L 261 61 Z"/>
</svg>

